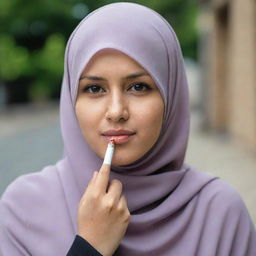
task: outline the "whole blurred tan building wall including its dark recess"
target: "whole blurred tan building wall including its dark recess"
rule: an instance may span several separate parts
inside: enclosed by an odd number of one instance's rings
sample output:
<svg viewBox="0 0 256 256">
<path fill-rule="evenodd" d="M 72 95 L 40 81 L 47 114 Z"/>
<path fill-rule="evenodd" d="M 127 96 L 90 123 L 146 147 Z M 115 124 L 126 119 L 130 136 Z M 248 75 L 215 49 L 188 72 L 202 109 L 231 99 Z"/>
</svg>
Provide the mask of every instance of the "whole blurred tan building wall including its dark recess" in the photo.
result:
<svg viewBox="0 0 256 256">
<path fill-rule="evenodd" d="M 256 1 L 201 2 L 211 20 L 204 79 L 208 126 L 256 152 Z"/>
</svg>

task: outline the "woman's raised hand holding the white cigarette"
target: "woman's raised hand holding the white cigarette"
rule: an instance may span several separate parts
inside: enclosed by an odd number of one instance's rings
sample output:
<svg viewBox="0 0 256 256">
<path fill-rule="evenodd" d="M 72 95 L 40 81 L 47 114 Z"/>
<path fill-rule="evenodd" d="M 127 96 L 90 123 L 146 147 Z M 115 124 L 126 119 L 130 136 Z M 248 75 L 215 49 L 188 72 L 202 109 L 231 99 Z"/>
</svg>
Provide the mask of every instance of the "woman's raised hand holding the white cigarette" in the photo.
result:
<svg viewBox="0 0 256 256">
<path fill-rule="evenodd" d="M 79 204 L 78 234 L 104 256 L 113 255 L 130 221 L 122 183 L 112 180 L 110 166 L 103 164 L 89 182 Z"/>
</svg>

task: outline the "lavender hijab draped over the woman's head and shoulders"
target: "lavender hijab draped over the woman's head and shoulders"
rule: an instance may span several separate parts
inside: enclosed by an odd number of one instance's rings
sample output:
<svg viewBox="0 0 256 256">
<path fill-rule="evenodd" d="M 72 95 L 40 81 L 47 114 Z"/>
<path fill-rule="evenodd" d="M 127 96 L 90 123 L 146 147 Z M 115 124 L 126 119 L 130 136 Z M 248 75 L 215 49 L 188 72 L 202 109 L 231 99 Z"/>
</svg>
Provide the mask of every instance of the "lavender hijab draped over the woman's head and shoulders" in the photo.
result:
<svg viewBox="0 0 256 256">
<path fill-rule="evenodd" d="M 99 50 L 119 50 L 143 66 L 164 103 L 156 145 L 128 166 L 112 166 L 132 214 L 115 255 L 255 256 L 255 229 L 237 193 L 186 166 L 188 86 L 179 43 L 156 12 L 134 3 L 106 5 L 71 35 L 61 92 L 64 158 L 13 182 L 0 202 L 3 256 L 66 255 L 77 232 L 80 198 L 100 159 L 83 139 L 74 105 L 78 79 Z M 203 149 L 202 149 L 203 150 Z"/>
</svg>

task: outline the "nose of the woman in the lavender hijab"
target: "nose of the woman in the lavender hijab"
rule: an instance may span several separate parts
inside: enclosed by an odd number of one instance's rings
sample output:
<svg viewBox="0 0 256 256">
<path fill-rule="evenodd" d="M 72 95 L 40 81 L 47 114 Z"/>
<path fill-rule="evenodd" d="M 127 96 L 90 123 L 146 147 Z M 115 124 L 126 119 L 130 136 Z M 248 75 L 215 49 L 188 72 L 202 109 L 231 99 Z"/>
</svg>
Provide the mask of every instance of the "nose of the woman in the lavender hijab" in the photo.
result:
<svg viewBox="0 0 256 256">
<path fill-rule="evenodd" d="M 106 119 L 113 122 L 127 121 L 129 119 L 128 103 L 121 92 L 110 94 Z"/>
</svg>

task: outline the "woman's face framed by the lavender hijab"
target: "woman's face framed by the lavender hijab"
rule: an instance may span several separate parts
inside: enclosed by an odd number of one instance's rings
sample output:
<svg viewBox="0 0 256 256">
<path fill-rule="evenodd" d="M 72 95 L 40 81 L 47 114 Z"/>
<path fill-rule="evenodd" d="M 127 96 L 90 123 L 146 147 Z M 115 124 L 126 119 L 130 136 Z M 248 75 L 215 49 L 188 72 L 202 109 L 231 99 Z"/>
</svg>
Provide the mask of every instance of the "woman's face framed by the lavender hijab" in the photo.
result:
<svg viewBox="0 0 256 256">
<path fill-rule="evenodd" d="M 80 80 L 75 106 L 83 136 L 104 158 L 115 140 L 113 165 L 127 165 L 147 153 L 159 137 L 164 103 L 151 76 L 116 50 L 93 56 Z"/>
</svg>

